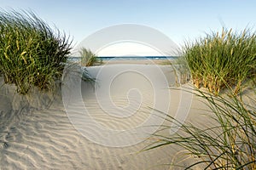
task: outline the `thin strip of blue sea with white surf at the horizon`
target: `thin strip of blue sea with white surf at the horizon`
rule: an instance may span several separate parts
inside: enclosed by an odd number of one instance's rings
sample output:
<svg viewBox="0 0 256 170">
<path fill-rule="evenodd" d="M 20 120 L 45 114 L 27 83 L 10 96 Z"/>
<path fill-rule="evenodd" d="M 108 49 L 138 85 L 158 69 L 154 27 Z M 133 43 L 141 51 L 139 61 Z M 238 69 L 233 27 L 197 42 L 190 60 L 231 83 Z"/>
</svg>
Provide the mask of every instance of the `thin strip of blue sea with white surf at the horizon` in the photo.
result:
<svg viewBox="0 0 256 170">
<path fill-rule="evenodd" d="M 104 56 L 98 57 L 102 60 L 146 60 L 146 59 L 177 59 L 177 56 Z M 71 61 L 79 61 L 79 57 L 69 57 Z"/>
</svg>

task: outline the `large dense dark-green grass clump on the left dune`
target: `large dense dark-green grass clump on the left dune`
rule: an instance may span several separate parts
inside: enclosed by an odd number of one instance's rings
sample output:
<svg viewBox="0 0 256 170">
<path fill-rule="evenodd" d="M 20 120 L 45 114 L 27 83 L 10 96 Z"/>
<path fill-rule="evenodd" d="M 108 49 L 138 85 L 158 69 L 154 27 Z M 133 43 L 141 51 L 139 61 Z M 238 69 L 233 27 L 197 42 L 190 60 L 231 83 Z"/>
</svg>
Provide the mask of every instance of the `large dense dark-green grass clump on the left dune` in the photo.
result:
<svg viewBox="0 0 256 170">
<path fill-rule="evenodd" d="M 52 89 L 61 77 L 71 42 L 32 12 L 0 12 L 0 74 L 20 94 L 32 86 Z"/>
</svg>

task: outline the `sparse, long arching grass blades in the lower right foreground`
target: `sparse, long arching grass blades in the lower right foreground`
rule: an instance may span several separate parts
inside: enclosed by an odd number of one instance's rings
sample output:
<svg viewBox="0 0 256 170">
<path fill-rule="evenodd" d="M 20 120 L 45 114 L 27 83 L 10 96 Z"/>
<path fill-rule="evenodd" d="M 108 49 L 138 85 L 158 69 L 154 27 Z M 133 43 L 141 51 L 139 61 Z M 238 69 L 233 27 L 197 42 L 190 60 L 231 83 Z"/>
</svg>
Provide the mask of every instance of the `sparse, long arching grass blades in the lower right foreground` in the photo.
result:
<svg viewBox="0 0 256 170">
<path fill-rule="evenodd" d="M 174 169 L 195 169 L 197 166 L 201 169 L 256 169 L 256 100 L 250 99 L 248 105 L 237 95 L 221 97 L 199 90 L 196 95 L 206 99 L 213 112 L 213 116 L 208 117 L 212 125 L 183 124 L 167 115 L 166 120 L 174 125 L 163 126 L 154 133 L 155 142 L 145 150 L 170 144 L 180 146 L 192 161 L 184 167 L 180 162 L 168 165 Z M 173 135 L 161 134 L 177 127 L 179 131 Z"/>
</svg>

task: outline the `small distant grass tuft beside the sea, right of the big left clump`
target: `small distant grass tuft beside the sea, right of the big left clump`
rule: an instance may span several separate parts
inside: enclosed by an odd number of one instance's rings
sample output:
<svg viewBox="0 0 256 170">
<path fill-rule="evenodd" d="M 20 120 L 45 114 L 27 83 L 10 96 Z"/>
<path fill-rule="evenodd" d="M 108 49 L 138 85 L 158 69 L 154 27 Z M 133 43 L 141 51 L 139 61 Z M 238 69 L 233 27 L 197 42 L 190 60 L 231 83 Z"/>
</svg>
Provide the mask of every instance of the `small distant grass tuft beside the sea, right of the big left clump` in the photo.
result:
<svg viewBox="0 0 256 170">
<path fill-rule="evenodd" d="M 81 48 L 79 51 L 81 57 L 81 65 L 92 66 L 102 64 L 102 59 L 99 59 L 96 54 L 93 54 L 90 49 Z"/>
</svg>

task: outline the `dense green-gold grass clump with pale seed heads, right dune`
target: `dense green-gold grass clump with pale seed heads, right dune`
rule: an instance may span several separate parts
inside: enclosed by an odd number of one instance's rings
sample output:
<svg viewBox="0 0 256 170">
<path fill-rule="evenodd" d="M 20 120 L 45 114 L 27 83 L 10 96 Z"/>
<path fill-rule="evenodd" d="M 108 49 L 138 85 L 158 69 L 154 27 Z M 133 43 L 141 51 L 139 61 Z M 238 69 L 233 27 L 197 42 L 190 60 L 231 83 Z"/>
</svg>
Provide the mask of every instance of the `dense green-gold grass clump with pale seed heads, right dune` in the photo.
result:
<svg viewBox="0 0 256 170">
<path fill-rule="evenodd" d="M 256 77 L 256 34 L 248 29 L 212 32 L 186 42 L 183 56 L 197 88 L 218 94 L 222 88 L 233 87 L 237 94 L 242 83 Z"/>
</svg>

